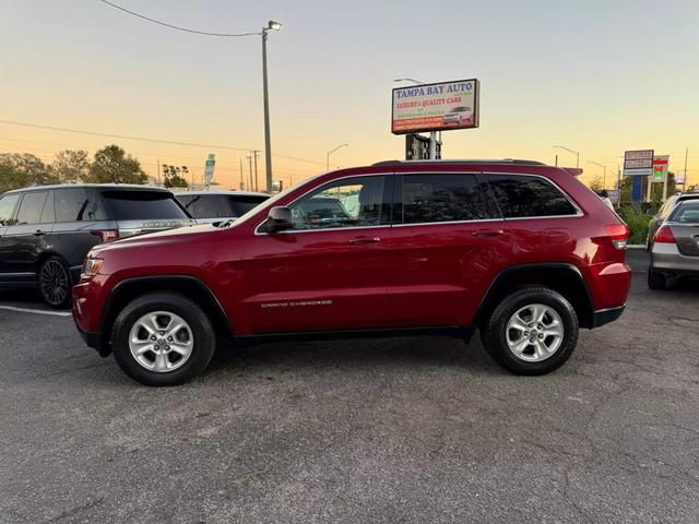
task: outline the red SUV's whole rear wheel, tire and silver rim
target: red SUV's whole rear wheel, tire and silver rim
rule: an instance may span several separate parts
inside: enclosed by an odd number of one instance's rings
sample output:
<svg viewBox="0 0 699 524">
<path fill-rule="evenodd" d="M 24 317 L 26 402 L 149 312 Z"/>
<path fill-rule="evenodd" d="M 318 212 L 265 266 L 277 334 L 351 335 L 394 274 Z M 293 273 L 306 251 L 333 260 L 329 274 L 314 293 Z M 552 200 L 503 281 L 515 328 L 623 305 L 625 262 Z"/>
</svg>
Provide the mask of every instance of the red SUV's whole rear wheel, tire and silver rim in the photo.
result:
<svg viewBox="0 0 699 524">
<path fill-rule="evenodd" d="M 578 343 L 578 317 L 566 298 L 547 287 L 508 295 L 493 311 L 483 345 L 516 374 L 545 374 L 568 360 Z"/>
</svg>

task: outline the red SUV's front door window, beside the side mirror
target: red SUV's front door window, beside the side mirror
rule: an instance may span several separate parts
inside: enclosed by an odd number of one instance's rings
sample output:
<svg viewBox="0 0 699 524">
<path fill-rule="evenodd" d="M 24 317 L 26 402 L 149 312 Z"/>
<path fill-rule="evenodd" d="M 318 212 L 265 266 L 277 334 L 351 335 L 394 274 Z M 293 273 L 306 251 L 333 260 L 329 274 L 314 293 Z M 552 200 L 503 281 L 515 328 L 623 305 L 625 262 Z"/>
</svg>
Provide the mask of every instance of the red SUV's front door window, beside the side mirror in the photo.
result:
<svg viewBox="0 0 699 524">
<path fill-rule="evenodd" d="M 388 224 L 386 177 L 336 180 L 303 196 L 289 209 L 294 229 L 370 227 Z"/>
</svg>

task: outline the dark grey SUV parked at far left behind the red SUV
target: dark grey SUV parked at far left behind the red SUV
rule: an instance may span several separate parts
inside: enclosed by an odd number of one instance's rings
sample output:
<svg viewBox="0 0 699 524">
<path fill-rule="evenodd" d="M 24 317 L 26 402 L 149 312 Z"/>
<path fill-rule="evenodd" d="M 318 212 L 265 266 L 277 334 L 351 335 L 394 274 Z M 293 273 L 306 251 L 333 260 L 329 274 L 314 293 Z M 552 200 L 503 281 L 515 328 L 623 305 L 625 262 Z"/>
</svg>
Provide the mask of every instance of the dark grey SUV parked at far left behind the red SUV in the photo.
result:
<svg viewBox="0 0 699 524">
<path fill-rule="evenodd" d="M 38 286 L 55 308 L 70 306 L 87 251 L 99 242 L 192 224 L 158 188 L 38 186 L 0 195 L 0 287 Z"/>
</svg>

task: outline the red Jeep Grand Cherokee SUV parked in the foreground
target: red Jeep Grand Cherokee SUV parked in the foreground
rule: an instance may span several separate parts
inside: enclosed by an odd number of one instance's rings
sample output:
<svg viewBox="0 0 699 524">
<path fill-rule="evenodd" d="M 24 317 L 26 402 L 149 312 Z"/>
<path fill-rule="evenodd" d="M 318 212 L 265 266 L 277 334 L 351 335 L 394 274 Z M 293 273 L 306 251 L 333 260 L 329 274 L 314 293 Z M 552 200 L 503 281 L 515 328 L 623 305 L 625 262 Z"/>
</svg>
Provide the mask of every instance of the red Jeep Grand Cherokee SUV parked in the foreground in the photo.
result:
<svg viewBox="0 0 699 524">
<path fill-rule="evenodd" d="M 542 374 L 579 327 L 623 312 L 628 228 L 558 167 L 384 162 L 327 172 L 242 217 L 90 252 L 73 290 L 86 343 L 132 379 L 185 382 L 216 346 L 450 334 Z"/>
</svg>

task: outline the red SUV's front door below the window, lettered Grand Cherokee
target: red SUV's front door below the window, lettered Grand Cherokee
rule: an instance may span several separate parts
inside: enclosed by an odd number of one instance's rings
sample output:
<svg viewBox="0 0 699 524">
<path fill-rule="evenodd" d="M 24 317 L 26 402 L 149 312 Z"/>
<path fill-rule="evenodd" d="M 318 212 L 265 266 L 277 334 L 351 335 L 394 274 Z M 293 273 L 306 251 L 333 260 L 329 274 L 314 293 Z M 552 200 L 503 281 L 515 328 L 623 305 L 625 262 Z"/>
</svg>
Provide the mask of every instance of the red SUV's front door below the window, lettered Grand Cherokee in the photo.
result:
<svg viewBox="0 0 699 524">
<path fill-rule="evenodd" d="M 261 235 L 242 262 L 251 333 L 386 324 L 390 227 Z"/>
</svg>

